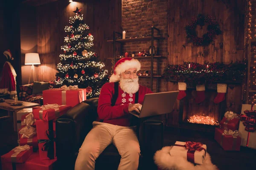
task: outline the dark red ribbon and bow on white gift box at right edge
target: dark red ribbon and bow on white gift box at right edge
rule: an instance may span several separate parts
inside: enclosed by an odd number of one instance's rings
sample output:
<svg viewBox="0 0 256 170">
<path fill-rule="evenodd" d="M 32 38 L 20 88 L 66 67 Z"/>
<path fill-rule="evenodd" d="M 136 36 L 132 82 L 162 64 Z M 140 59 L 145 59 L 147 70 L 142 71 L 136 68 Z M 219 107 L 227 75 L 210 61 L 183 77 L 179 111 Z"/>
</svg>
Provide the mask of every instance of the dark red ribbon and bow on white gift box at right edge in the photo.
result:
<svg viewBox="0 0 256 170">
<path fill-rule="evenodd" d="M 256 130 L 256 111 L 253 111 L 253 105 L 251 110 L 245 110 L 244 114 L 240 114 L 240 120 L 243 121 L 245 130 L 248 131 L 246 146 L 248 147 L 250 133 Z"/>
</svg>

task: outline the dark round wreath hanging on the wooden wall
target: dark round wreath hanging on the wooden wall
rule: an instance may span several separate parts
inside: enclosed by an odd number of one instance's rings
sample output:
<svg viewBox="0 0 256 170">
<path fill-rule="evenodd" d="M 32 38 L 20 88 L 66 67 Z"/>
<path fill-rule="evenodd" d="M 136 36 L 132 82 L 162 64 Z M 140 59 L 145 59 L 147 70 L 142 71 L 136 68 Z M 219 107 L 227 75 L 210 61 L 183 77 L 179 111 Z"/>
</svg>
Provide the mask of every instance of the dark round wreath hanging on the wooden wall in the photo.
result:
<svg viewBox="0 0 256 170">
<path fill-rule="evenodd" d="M 205 23 L 208 23 L 207 33 L 203 37 L 198 37 L 195 31 L 197 25 L 204 26 Z M 192 40 L 193 44 L 196 46 L 207 46 L 209 45 L 216 35 L 221 34 L 221 29 L 217 21 L 212 16 L 204 17 L 202 14 L 198 14 L 197 18 L 192 18 L 192 23 L 186 24 L 186 34 L 187 38 Z"/>
</svg>

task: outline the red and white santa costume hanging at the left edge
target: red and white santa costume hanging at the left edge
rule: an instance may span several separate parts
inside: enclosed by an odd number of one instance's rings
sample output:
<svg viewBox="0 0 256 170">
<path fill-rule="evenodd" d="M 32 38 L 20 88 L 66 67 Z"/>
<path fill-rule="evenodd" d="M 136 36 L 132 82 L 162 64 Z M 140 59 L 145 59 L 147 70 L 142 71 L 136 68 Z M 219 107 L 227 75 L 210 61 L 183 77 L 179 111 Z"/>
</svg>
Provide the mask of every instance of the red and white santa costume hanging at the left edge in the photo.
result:
<svg viewBox="0 0 256 170">
<path fill-rule="evenodd" d="M 6 56 L 8 61 L 3 65 L 2 78 L 0 79 L 0 94 L 10 94 L 10 98 L 14 99 L 17 96 L 16 91 L 16 72 L 9 62 L 13 60 L 12 53 L 10 50 L 4 51 L 3 54 Z"/>
</svg>

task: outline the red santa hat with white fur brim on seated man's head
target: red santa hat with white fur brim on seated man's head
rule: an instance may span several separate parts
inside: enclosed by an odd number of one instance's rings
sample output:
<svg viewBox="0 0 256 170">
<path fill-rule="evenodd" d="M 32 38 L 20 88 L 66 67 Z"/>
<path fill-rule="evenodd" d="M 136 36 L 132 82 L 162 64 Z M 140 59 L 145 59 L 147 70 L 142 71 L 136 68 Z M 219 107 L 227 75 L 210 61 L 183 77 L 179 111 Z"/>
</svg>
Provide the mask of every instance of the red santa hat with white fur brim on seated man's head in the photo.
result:
<svg viewBox="0 0 256 170">
<path fill-rule="evenodd" d="M 140 70 L 140 62 L 137 59 L 131 57 L 125 57 L 119 59 L 114 67 L 114 74 L 109 79 L 109 82 L 118 82 L 120 80 L 119 75 L 130 68 L 136 68 Z"/>
</svg>

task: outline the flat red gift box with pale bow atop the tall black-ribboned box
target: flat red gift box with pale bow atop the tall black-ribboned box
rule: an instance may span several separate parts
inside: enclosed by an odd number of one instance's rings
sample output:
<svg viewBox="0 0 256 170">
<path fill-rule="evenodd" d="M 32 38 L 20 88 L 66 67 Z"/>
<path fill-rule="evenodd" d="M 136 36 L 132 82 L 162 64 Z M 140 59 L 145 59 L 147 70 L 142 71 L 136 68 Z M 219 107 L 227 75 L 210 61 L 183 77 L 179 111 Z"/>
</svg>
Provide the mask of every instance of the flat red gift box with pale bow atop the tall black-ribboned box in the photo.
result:
<svg viewBox="0 0 256 170">
<path fill-rule="evenodd" d="M 47 106 L 47 105 L 46 105 Z M 33 114 L 35 116 L 35 119 L 41 119 L 41 120 L 53 120 L 58 118 L 59 116 L 66 113 L 71 106 L 68 105 L 61 105 L 59 107 L 50 108 L 50 109 L 44 109 L 44 107 L 37 106 L 33 108 Z"/>
</svg>

